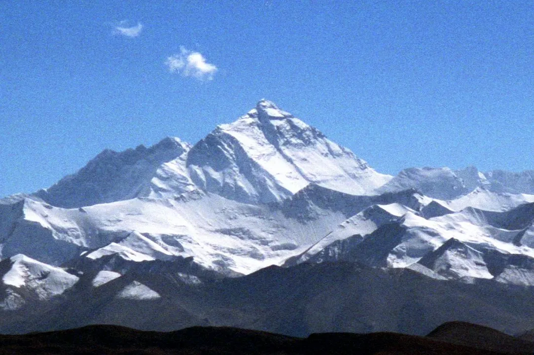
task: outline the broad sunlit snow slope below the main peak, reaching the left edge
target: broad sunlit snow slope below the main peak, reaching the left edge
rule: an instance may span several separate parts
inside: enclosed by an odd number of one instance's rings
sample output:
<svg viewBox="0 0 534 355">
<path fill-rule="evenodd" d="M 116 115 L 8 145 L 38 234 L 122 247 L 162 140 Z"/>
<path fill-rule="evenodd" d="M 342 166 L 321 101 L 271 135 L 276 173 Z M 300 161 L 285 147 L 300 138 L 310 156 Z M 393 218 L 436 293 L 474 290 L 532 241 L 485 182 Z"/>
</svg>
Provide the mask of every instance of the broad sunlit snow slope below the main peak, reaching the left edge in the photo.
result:
<svg viewBox="0 0 534 355">
<path fill-rule="evenodd" d="M 356 212 L 367 206 L 367 198 L 362 201 L 355 204 Z M 117 255 L 137 262 L 193 257 L 208 269 L 246 274 L 302 253 L 347 218 L 342 207 L 310 205 L 307 210 L 312 213 L 304 223 L 273 206 L 213 194 L 76 209 L 25 200 L 23 216 L 4 242 L 2 255 L 24 251 L 54 265 L 80 254 L 92 259 Z"/>
</svg>

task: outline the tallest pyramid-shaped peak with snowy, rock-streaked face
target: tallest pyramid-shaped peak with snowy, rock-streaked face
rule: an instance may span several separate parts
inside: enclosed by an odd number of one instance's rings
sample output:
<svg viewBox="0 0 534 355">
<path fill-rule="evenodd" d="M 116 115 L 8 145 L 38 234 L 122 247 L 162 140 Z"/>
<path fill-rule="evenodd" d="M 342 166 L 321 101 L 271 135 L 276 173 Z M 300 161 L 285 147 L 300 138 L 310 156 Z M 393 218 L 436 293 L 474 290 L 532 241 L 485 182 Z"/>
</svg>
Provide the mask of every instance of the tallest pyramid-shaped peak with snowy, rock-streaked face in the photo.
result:
<svg viewBox="0 0 534 355">
<path fill-rule="evenodd" d="M 309 183 L 371 194 L 390 179 L 267 100 L 194 145 L 187 167 L 202 190 L 253 203 L 280 201 Z"/>
</svg>

